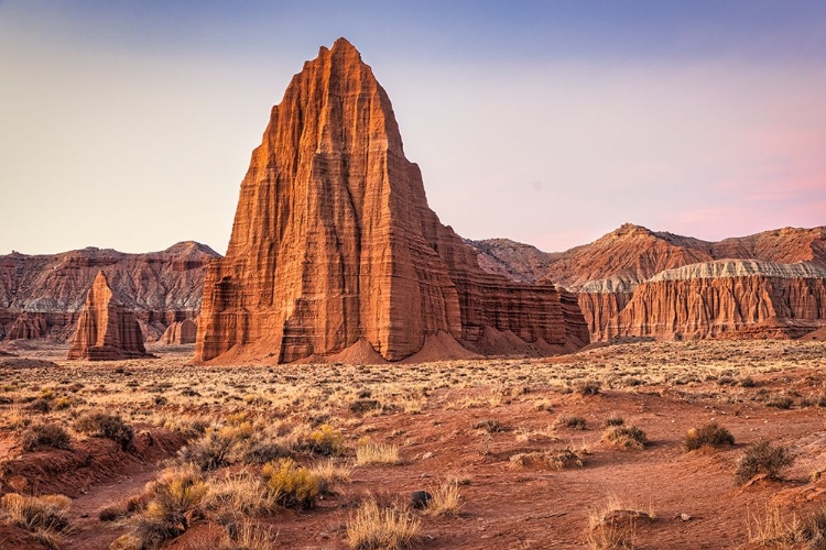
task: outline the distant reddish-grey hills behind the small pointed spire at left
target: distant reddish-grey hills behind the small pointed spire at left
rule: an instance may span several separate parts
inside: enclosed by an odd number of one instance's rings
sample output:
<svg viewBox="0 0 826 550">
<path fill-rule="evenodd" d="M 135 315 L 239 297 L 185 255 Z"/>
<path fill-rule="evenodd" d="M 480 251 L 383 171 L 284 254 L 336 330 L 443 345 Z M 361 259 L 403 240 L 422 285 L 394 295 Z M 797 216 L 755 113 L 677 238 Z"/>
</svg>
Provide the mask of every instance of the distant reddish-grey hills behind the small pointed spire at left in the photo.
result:
<svg viewBox="0 0 826 550">
<path fill-rule="evenodd" d="M 157 339 L 171 322 L 197 317 L 206 265 L 216 257 L 192 241 L 146 254 L 88 248 L 0 256 L 0 336 L 72 338 L 86 290 L 102 270 L 146 336 Z"/>
</svg>

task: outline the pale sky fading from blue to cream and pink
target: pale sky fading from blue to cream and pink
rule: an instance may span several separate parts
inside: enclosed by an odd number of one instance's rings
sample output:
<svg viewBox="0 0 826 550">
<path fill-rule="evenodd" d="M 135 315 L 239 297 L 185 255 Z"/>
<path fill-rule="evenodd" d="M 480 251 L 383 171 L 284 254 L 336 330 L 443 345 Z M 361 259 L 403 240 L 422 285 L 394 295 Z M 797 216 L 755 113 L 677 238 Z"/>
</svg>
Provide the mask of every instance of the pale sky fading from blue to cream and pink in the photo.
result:
<svg viewBox="0 0 826 550">
<path fill-rule="evenodd" d="M 824 29 L 822 1 L 0 0 L 0 253 L 225 252 L 270 108 L 338 36 L 463 237 L 826 224 Z"/>
</svg>

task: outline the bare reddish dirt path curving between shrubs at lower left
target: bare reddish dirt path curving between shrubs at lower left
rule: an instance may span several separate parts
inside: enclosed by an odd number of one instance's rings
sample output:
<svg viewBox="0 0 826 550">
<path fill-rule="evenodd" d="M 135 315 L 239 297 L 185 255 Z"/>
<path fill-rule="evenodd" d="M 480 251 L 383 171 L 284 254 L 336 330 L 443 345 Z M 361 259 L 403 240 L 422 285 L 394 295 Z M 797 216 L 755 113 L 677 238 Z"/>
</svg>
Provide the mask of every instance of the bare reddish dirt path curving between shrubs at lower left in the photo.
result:
<svg viewBox="0 0 826 550">
<path fill-rule="evenodd" d="M 72 503 L 70 521 L 76 531 L 62 547 L 64 550 L 100 550 L 109 548 L 112 540 L 123 535 L 123 529 L 98 519 L 101 508 L 124 497 L 140 493 L 154 480 L 160 468 L 146 464 L 143 469 L 124 475 L 106 485 L 98 485 Z"/>
</svg>

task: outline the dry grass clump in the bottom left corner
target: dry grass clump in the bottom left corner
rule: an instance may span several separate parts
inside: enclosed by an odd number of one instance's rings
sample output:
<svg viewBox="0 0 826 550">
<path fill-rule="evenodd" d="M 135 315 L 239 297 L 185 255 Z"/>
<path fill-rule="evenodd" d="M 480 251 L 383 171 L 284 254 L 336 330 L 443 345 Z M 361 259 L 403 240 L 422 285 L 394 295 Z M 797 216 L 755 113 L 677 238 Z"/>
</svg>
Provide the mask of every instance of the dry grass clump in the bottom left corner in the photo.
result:
<svg viewBox="0 0 826 550">
<path fill-rule="evenodd" d="M 64 495 L 24 496 L 8 493 L 0 498 L 7 524 L 32 532 L 39 542 L 59 548 L 63 534 L 69 531 L 69 497 Z M 0 541 L 2 542 L 2 541 Z"/>
</svg>

